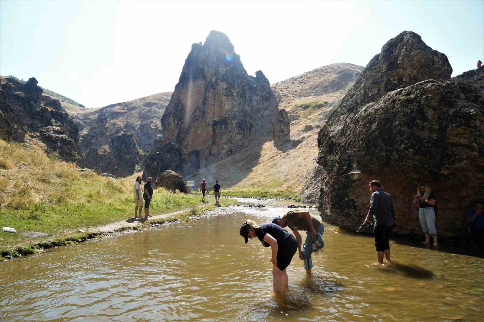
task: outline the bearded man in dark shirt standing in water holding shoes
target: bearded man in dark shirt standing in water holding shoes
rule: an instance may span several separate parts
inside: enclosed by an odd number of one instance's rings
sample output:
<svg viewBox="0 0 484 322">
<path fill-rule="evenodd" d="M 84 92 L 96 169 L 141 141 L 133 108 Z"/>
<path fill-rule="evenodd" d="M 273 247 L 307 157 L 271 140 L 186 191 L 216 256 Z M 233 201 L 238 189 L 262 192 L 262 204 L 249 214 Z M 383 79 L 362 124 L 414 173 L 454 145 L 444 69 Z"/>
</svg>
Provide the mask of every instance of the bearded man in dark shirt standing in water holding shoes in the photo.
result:
<svg viewBox="0 0 484 322">
<path fill-rule="evenodd" d="M 378 263 L 383 263 L 383 254 L 387 261 L 390 262 L 390 233 L 395 227 L 395 208 L 393 207 L 392 197 L 381 189 L 378 180 L 371 181 L 368 186 L 372 192 L 370 198 L 370 209 L 366 215 L 363 224 L 370 221 L 373 216 L 375 225 L 373 226 L 373 235 L 375 236 L 375 247 L 377 250 Z"/>
</svg>

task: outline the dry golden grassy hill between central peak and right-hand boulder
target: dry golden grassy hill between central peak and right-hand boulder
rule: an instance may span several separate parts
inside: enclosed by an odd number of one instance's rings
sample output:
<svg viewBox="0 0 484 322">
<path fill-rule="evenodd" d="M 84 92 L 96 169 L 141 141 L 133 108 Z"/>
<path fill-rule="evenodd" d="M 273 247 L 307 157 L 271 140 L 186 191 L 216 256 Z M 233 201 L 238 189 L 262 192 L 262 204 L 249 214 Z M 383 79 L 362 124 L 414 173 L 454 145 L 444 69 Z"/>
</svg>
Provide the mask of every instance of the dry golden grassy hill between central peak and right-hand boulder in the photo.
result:
<svg viewBox="0 0 484 322">
<path fill-rule="evenodd" d="M 319 129 L 362 71 L 362 66 L 337 63 L 272 84 L 279 109 L 289 115 L 291 140 L 276 147 L 268 129 L 252 146 L 185 179 L 219 180 L 234 194 L 298 195 L 317 165 Z"/>
</svg>

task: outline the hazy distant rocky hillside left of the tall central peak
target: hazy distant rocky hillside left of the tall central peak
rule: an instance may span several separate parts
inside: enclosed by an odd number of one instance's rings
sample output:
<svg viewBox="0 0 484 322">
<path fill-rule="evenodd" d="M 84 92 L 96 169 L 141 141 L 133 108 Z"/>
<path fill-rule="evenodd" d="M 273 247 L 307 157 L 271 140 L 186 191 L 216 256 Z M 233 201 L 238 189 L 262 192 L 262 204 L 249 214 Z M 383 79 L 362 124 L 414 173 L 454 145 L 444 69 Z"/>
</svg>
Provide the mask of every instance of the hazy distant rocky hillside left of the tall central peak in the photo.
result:
<svg viewBox="0 0 484 322">
<path fill-rule="evenodd" d="M 82 127 L 83 164 L 114 176 L 131 176 L 155 141 L 163 139 L 160 117 L 171 92 L 76 114 Z"/>
</svg>

